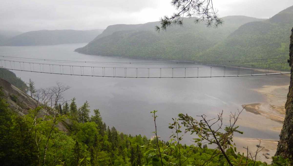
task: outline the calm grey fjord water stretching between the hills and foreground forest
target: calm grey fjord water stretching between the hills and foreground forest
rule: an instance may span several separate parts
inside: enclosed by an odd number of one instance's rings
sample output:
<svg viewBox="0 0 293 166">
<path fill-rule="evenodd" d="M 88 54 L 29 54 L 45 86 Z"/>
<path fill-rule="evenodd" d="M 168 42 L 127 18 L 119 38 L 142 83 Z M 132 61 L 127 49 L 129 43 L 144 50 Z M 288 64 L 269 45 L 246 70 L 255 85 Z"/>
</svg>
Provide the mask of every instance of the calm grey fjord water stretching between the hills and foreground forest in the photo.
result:
<svg viewBox="0 0 293 166">
<path fill-rule="evenodd" d="M 74 52 L 74 49 L 86 44 L 62 44 L 54 46 L 1 46 L 1 56 L 16 56 L 26 58 L 46 58 L 76 61 L 100 62 L 167 62 L 161 60 L 141 60 L 131 58 L 84 55 Z M 16 60 L 19 60 L 16 58 Z M 32 61 L 31 61 L 32 62 Z M 44 61 L 33 61 L 44 63 Z M 54 62 L 45 62 L 54 63 Z M 68 63 L 68 65 L 87 65 L 99 67 L 192 67 L 204 66 L 198 64 L 163 64 L 163 65 L 132 65 L 132 64 L 84 64 Z M 231 72 L 235 72 L 231 70 Z M 243 70 L 244 71 L 244 70 Z M 171 130 L 168 123 L 178 113 L 196 117 L 205 114 L 211 118 L 224 110 L 226 118 L 230 112 L 241 110 L 243 104 L 263 103 L 266 99 L 253 89 L 264 85 L 287 85 L 289 77 L 284 75 L 248 76 L 248 77 L 212 77 L 212 78 L 113 78 L 54 75 L 35 72 L 13 71 L 25 82 L 31 78 L 35 87 L 46 88 L 54 86 L 57 81 L 69 85 L 64 97 L 67 100 L 76 98 L 81 106 L 88 101 L 91 110 L 99 109 L 103 121 L 110 127 L 115 126 L 120 132 L 136 135 L 142 134 L 150 138 L 153 135 L 154 123 L 150 112 L 158 110 L 158 135 L 168 140 Z M 209 70 L 207 71 L 209 72 Z M 222 73 L 222 69 L 213 71 Z M 246 72 L 250 72 L 247 70 Z M 153 71 L 158 75 L 159 70 Z M 249 74 L 249 73 L 248 73 Z M 109 74 L 110 75 L 110 74 Z M 249 112 L 242 113 L 242 120 L 250 121 Z M 261 122 L 253 121 L 256 126 Z M 275 123 L 272 121 L 272 123 Z M 279 132 L 260 130 L 240 126 L 244 137 L 261 139 L 278 139 Z M 192 136 L 185 136 L 188 143 Z"/>
</svg>

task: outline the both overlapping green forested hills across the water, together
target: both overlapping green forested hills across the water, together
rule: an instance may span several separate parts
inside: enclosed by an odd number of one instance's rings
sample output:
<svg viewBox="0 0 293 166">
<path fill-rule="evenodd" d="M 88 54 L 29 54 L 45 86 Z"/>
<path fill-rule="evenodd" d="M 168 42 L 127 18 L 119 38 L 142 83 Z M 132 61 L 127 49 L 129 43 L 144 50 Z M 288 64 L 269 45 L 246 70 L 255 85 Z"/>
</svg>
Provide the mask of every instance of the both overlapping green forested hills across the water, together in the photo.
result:
<svg viewBox="0 0 293 166">
<path fill-rule="evenodd" d="M 184 18 L 183 27 L 155 32 L 159 22 L 139 25 L 112 25 L 92 42 L 75 51 L 103 56 L 124 56 L 180 61 L 244 60 L 287 57 L 293 6 L 270 19 L 245 16 L 223 17 L 217 29 Z M 284 59 L 270 63 L 286 62 Z M 259 64 L 262 62 L 254 63 Z M 248 63 L 225 63 L 243 65 Z M 252 64 L 249 62 L 249 64 Z M 219 65 L 217 63 L 216 65 Z M 220 64 L 222 65 L 222 64 Z M 280 65 L 279 65 L 280 66 Z M 272 66 L 274 69 L 280 67 Z"/>
</svg>

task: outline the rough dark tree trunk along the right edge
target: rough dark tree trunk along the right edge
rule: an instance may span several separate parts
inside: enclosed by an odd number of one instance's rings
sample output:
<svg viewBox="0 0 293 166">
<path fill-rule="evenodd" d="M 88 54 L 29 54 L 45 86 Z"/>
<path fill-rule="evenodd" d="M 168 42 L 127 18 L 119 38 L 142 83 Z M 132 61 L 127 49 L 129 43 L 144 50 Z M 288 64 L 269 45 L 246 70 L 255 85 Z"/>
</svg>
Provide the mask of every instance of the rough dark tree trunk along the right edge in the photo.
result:
<svg viewBox="0 0 293 166">
<path fill-rule="evenodd" d="M 289 158 L 293 161 L 293 28 L 291 31 L 292 35 L 290 37 L 289 46 L 290 59 L 288 60 L 291 67 L 290 86 L 287 95 L 287 102 L 285 104 L 286 116 L 275 155 L 281 155 L 284 158 Z"/>
</svg>

